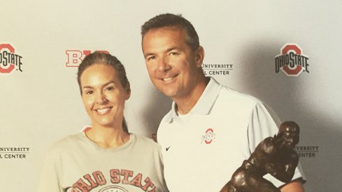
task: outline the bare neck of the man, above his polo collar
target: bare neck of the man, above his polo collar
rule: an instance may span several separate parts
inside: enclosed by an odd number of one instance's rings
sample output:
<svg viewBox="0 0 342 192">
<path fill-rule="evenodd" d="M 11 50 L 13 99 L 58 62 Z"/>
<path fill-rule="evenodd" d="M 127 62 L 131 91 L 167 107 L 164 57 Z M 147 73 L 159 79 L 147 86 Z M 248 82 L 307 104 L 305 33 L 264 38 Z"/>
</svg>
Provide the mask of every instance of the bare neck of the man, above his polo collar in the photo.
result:
<svg viewBox="0 0 342 192">
<path fill-rule="evenodd" d="M 173 101 L 176 103 L 176 110 L 178 113 L 185 115 L 194 108 L 194 105 L 196 105 L 197 101 L 199 101 L 199 98 L 203 94 L 204 89 L 206 89 L 209 80 L 210 78 L 204 77 L 199 81 L 194 89 L 190 91 L 190 94 L 182 98 L 173 98 Z"/>
</svg>

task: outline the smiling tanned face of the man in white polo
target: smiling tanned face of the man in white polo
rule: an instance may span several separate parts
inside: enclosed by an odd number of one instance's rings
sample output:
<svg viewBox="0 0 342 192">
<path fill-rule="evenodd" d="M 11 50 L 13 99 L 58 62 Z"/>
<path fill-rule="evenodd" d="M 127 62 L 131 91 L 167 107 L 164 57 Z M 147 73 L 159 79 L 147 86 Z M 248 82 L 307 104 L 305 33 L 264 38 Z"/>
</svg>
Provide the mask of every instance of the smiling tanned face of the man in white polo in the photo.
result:
<svg viewBox="0 0 342 192">
<path fill-rule="evenodd" d="M 203 49 L 193 51 L 183 29 L 162 27 L 143 37 L 143 55 L 155 87 L 173 99 L 191 96 L 200 76 Z"/>
</svg>

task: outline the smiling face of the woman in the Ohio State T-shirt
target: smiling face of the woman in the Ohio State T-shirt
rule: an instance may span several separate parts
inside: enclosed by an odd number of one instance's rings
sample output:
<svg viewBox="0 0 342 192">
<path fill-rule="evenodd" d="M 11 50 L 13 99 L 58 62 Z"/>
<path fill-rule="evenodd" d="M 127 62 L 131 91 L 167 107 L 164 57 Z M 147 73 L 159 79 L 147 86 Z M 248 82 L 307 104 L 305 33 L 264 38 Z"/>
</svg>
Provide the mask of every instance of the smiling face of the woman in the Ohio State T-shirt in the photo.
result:
<svg viewBox="0 0 342 192">
<path fill-rule="evenodd" d="M 82 100 L 92 119 L 92 126 L 121 126 L 124 101 L 130 89 L 124 89 L 115 68 L 105 64 L 94 64 L 80 77 Z"/>
</svg>

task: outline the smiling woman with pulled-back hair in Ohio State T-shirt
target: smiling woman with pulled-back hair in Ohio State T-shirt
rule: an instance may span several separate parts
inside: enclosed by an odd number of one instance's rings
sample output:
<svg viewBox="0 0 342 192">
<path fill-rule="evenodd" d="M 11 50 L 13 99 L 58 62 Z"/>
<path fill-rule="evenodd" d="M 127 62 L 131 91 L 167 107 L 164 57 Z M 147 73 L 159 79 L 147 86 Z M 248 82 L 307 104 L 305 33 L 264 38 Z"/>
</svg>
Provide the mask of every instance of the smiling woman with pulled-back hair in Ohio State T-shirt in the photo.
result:
<svg viewBox="0 0 342 192">
<path fill-rule="evenodd" d="M 38 191 L 168 191 L 159 145 L 128 132 L 123 112 L 131 89 L 120 61 L 89 54 L 78 84 L 92 126 L 52 146 Z"/>
</svg>

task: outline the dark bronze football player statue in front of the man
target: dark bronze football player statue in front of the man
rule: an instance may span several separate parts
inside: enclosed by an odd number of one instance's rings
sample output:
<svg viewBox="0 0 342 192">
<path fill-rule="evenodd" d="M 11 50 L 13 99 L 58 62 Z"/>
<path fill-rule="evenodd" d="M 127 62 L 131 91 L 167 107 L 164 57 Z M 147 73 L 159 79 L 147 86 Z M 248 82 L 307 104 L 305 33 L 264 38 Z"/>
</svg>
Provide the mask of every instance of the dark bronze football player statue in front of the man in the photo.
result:
<svg viewBox="0 0 342 192">
<path fill-rule="evenodd" d="M 263 176 L 269 173 L 281 182 L 290 182 L 299 161 L 294 151 L 298 142 L 299 126 L 293 121 L 283 122 L 278 134 L 262 140 L 220 192 L 280 192 Z"/>
</svg>

